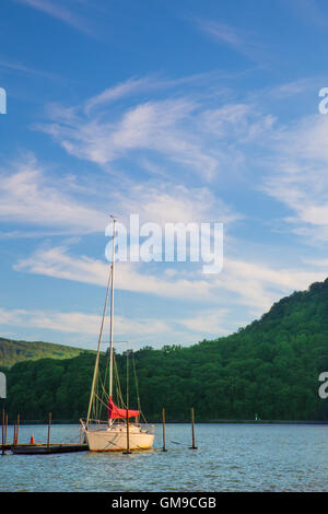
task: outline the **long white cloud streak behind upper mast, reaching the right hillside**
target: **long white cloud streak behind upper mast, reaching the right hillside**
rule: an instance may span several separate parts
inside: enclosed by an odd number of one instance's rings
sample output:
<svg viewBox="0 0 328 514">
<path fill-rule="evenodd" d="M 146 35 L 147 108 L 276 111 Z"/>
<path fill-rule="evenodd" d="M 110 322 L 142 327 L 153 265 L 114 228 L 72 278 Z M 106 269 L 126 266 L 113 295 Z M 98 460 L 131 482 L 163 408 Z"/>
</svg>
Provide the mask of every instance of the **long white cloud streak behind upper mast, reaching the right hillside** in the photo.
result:
<svg viewBox="0 0 328 514">
<path fill-rule="evenodd" d="M 162 265 L 164 268 L 164 264 Z M 40 248 L 14 266 L 21 272 L 44 274 L 82 283 L 105 287 L 106 262 L 85 256 L 73 256 L 66 246 Z M 165 269 L 165 268 L 164 268 Z M 263 314 L 273 302 L 295 290 L 306 289 L 312 282 L 324 280 L 324 270 L 311 267 L 270 267 L 261 261 L 244 261 L 227 256 L 221 273 L 204 276 L 198 267 L 194 271 L 156 274 L 149 264 L 121 262 L 117 273 L 117 289 L 147 293 L 163 299 L 202 302 L 218 308 L 244 305 L 251 315 Z"/>
</svg>

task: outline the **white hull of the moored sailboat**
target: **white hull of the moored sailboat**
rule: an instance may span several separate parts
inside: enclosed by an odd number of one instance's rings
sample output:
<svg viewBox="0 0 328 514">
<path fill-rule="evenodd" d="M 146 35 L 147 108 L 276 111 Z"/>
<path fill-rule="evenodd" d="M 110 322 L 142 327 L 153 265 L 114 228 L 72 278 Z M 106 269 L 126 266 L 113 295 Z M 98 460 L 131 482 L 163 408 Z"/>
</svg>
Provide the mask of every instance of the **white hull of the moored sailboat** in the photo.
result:
<svg viewBox="0 0 328 514">
<path fill-rule="evenodd" d="M 86 441 L 91 452 L 124 452 L 127 449 L 126 427 L 109 427 L 107 429 L 85 429 Z M 154 434 L 138 425 L 129 428 L 130 449 L 150 449 Z"/>
</svg>

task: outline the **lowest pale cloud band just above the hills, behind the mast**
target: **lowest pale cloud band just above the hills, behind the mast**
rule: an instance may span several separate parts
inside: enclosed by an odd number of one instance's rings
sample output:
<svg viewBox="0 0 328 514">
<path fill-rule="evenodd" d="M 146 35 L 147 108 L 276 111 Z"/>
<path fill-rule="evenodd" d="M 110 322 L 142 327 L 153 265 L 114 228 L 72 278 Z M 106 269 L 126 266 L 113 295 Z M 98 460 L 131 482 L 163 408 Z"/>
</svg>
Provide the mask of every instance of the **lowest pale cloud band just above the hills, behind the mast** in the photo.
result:
<svg viewBox="0 0 328 514">
<path fill-rule="evenodd" d="M 212 309 L 199 313 L 194 318 L 127 317 L 115 315 L 114 344 L 117 351 L 134 346 L 152 344 L 161 347 L 172 341 L 196 342 L 204 337 L 219 337 L 229 334 L 224 328 L 226 309 Z M 83 312 L 60 312 L 45 309 L 23 309 L 0 307 L 0 325 L 30 330 L 33 339 L 42 339 L 45 330 L 61 332 L 71 346 L 96 349 L 102 316 Z M 109 316 L 105 318 L 104 334 L 109 332 Z M 2 332 L 3 334 L 3 332 Z M 11 332 L 10 332 L 11 334 Z M 168 336 L 169 335 L 169 336 Z M 31 336 L 30 336 L 31 337 Z M 77 341 L 77 342 L 75 342 Z M 103 338 L 102 350 L 108 348 L 108 340 Z"/>
</svg>

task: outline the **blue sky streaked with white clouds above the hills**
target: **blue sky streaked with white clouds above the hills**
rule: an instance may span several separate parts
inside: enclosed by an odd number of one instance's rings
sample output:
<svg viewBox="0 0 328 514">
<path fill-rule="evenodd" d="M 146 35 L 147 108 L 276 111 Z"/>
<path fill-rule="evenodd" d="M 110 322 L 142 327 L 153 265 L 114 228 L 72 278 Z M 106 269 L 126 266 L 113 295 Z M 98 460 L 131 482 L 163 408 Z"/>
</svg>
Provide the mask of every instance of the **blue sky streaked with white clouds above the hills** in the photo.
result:
<svg viewBox="0 0 328 514">
<path fill-rule="evenodd" d="M 0 335 L 95 348 L 109 212 L 224 224 L 220 273 L 118 264 L 131 348 L 231 334 L 324 280 L 327 34 L 319 0 L 2 0 Z"/>
</svg>

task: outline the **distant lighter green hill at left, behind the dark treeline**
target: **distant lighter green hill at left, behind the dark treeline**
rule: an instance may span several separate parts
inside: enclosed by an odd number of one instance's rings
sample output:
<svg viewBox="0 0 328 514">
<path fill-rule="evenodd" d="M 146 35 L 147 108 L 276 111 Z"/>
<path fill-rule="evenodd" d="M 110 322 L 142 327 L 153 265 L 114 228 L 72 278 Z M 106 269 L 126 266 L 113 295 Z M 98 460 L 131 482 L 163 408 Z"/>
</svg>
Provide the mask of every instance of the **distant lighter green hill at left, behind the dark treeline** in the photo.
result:
<svg viewBox="0 0 328 514">
<path fill-rule="evenodd" d="M 16 362 L 37 360 L 45 357 L 67 359 L 77 357 L 83 351 L 81 348 L 54 344 L 43 341 L 15 341 L 0 338 L 0 365 L 10 367 Z"/>
</svg>

